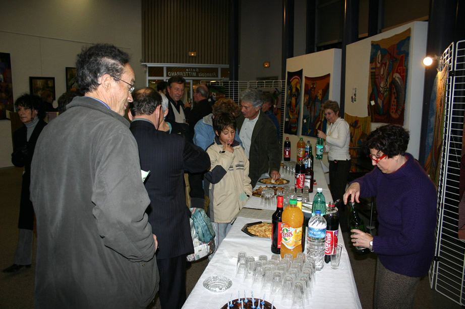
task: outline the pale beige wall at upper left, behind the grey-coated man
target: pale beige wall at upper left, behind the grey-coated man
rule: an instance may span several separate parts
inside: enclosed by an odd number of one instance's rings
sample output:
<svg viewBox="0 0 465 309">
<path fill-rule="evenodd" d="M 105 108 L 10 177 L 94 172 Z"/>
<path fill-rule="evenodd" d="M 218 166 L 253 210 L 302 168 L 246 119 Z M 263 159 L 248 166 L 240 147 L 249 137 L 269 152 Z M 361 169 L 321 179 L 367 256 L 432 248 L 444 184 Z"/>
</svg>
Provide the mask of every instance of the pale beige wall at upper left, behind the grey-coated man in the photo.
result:
<svg viewBox="0 0 465 309">
<path fill-rule="evenodd" d="M 10 53 L 14 99 L 29 92 L 29 76 L 54 77 L 58 98 L 66 91 L 65 68 L 75 67 L 82 46 L 92 43 L 128 52 L 136 86 L 145 86 L 140 0 L 4 1 L 1 11 L 0 52 Z M 12 165 L 13 151 L 11 129 L 3 122 L 0 167 Z"/>
</svg>

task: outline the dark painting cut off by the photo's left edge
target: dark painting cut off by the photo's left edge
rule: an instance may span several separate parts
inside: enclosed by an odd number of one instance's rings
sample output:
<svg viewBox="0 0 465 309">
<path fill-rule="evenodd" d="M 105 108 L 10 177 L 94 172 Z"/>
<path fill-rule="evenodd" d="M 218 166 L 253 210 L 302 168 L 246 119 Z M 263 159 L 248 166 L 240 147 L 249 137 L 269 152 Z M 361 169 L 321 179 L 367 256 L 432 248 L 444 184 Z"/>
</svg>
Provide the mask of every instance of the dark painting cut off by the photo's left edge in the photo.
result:
<svg viewBox="0 0 465 309">
<path fill-rule="evenodd" d="M 0 52 L 0 120 L 7 118 L 7 110 L 14 110 L 13 103 L 10 54 Z"/>
</svg>

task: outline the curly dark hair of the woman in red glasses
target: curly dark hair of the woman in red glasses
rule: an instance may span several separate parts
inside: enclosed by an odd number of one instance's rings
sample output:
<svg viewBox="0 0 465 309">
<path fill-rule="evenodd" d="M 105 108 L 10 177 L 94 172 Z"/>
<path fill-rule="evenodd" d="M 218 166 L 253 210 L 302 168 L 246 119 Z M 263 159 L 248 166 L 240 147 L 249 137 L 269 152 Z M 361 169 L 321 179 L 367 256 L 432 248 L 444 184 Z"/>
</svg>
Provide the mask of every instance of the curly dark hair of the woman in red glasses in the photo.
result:
<svg viewBox="0 0 465 309">
<path fill-rule="evenodd" d="M 400 125 L 386 124 L 378 127 L 368 135 L 364 147 L 381 151 L 388 158 L 405 155 L 409 145 L 410 134 Z"/>
</svg>

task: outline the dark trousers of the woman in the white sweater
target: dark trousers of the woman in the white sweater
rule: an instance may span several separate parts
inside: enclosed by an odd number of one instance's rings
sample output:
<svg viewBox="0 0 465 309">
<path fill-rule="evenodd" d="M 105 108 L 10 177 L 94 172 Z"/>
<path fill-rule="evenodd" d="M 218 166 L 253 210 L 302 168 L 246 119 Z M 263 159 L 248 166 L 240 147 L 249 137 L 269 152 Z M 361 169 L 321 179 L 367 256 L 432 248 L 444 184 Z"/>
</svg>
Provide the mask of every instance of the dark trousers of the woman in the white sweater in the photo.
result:
<svg viewBox="0 0 465 309">
<path fill-rule="evenodd" d="M 342 200 L 347 185 L 348 173 L 351 170 L 351 160 L 329 161 L 329 185 L 333 201 Z M 343 204 L 342 204 L 343 205 Z M 347 211 L 345 207 L 338 209 L 339 224 L 342 231 L 348 230 Z"/>
</svg>

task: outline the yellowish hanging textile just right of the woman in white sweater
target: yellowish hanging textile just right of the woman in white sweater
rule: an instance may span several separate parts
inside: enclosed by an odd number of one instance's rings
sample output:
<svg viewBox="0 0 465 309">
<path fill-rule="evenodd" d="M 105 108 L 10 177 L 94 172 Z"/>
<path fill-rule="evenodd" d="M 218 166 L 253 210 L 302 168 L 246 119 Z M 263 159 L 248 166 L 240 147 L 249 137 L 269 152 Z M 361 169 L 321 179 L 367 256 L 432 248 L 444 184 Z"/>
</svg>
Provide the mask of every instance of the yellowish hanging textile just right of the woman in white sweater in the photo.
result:
<svg viewBox="0 0 465 309">
<path fill-rule="evenodd" d="M 358 117 L 345 113 L 344 120 L 347 121 L 349 129 L 351 130 L 351 142 L 349 143 L 349 147 L 362 147 L 371 131 L 370 116 Z M 349 149 L 349 153 L 351 154 L 351 158 L 359 158 L 362 155 L 361 149 Z M 357 173 L 362 171 L 363 169 L 352 164 L 351 172 Z"/>
</svg>

